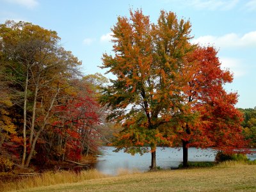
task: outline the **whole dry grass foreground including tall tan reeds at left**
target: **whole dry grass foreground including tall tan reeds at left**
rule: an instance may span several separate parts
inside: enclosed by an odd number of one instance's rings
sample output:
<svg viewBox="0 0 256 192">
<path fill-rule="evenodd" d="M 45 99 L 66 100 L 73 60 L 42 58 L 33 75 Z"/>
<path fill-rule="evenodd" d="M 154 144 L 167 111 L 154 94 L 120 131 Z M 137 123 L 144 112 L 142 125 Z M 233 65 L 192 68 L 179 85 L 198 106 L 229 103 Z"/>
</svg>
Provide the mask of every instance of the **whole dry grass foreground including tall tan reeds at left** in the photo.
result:
<svg viewBox="0 0 256 192">
<path fill-rule="evenodd" d="M 146 173 L 123 170 L 116 177 L 96 171 L 78 176 L 63 172 L 29 180 L 4 186 L 4 191 L 256 191 L 256 165 L 230 162 L 212 168 Z"/>
</svg>

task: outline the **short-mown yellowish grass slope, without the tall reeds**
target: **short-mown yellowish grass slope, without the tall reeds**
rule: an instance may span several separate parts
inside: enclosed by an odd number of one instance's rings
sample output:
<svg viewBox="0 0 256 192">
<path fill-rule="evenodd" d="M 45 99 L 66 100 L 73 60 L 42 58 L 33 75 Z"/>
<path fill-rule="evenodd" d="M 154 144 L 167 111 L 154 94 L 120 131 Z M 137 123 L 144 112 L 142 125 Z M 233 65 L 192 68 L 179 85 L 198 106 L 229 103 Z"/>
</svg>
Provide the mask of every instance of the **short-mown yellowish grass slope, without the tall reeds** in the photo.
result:
<svg viewBox="0 0 256 192">
<path fill-rule="evenodd" d="M 134 173 L 26 191 L 256 191 L 256 165 Z"/>
</svg>

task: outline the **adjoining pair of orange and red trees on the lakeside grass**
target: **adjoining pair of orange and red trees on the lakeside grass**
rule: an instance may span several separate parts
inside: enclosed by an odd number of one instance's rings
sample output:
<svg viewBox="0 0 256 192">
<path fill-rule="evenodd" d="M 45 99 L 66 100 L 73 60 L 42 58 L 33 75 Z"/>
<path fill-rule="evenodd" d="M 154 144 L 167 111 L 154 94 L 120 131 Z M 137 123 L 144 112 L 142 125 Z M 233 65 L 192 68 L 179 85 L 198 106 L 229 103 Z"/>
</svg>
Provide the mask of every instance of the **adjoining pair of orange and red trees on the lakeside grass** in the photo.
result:
<svg viewBox="0 0 256 192">
<path fill-rule="evenodd" d="M 103 54 L 102 68 L 116 79 L 100 102 L 111 108 L 109 120 L 124 128 L 114 143 L 118 150 L 142 154 L 150 147 L 155 169 L 156 145 L 182 141 L 184 166 L 189 145 L 244 146 L 241 113 L 234 107 L 237 93 L 223 88 L 232 74 L 221 70 L 214 47 L 190 43 L 189 21 L 161 11 L 152 24 L 136 10 L 130 18 L 118 17 L 111 30 L 115 54 Z"/>
</svg>

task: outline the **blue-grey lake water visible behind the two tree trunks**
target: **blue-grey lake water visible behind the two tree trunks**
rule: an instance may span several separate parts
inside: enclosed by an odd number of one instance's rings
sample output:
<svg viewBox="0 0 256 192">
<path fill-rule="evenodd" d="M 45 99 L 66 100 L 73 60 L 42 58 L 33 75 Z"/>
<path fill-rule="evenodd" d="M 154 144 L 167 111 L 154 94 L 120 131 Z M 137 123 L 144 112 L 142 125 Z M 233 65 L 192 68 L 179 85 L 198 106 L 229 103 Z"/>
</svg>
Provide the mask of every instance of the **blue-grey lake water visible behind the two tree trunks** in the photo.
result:
<svg viewBox="0 0 256 192">
<path fill-rule="evenodd" d="M 151 154 L 127 154 L 124 152 L 113 152 L 114 147 L 102 147 L 102 156 L 94 165 L 102 173 L 116 175 L 118 170 L 138 170 L 146 172 L 151 164 Z M 214 161 L 216 150 L 211 148 L 189 148 L 188 161 Z M 251 160 L 256 159 L 256 154 L 248 155 Z M 163 169 L 177 168 L 182 163 L 182 148 L 157 147 L 157 166 Z"/>
</svg>

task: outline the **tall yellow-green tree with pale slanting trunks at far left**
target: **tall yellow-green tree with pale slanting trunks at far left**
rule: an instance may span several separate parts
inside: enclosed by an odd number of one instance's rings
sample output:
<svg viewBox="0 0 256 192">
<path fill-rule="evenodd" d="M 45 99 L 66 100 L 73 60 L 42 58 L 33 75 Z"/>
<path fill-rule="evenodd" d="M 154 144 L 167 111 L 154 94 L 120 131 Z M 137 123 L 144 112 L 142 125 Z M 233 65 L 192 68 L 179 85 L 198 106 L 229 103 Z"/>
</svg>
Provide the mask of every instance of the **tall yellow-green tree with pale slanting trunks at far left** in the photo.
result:
<svg viewBox="0 0 256 192">
<path fill-rule="evenodd" d="M 21 166 L 28 166 L 36 142 L 49 124 L 57 96 L 69 86 L 67 79 L 76 76 L 80 62 L 60 46 L 55 31 L 28 22 L 7 21 L 0 26 L 0 36 L 6 78 L 20 93 L 17 106 L 23 111 Z"/>
</svg>

